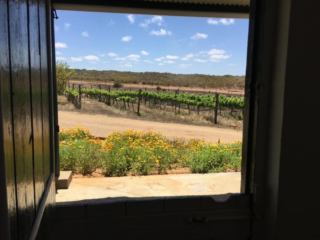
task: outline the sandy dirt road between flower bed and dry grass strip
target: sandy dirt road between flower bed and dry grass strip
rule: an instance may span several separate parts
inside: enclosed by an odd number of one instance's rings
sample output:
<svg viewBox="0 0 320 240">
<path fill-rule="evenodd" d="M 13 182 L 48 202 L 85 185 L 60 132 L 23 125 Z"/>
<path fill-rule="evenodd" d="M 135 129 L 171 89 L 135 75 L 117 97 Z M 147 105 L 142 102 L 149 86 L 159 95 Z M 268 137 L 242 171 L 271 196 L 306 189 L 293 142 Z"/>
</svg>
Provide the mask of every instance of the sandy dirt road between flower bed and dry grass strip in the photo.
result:
<svg viewBox="0 0 320 240">
<path fill-rule="evenodd" d="M 224 142 L 230 140 L 242 140 L 242 132 L 231 129 L 158 123 L 67 111 L 59 111 L 58 116 L 60 129 L 82 125 L 99 137 L 105 137 L 112 131 L 124 131 L 127 129 L 142 131 L 151 127 L 151 130 L 160 130 L 169 138 L 173 138 L 175 136 L 185 138 L 204 138 L 206 141 L 218 141 L 218 139 L 220 139 L 220 141 Z"/>
</svg>

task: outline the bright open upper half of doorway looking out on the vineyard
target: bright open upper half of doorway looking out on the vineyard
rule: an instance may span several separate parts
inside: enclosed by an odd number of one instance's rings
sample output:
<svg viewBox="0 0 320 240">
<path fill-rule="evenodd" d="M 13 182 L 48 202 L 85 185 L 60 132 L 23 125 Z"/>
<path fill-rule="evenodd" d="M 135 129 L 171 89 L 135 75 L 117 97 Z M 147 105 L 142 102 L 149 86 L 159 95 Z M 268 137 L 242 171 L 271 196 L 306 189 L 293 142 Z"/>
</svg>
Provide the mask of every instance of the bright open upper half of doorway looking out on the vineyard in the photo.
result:
<svg viewBox="0 0 320 240">
<path fill-rule="evenodd" d="M 76 174 L 57 204 L 244 193 L 249 8 L 126 4 L 53 3 L 57 78 L 76 68 L 57 82 L 56 172 Z"/>
</svg>

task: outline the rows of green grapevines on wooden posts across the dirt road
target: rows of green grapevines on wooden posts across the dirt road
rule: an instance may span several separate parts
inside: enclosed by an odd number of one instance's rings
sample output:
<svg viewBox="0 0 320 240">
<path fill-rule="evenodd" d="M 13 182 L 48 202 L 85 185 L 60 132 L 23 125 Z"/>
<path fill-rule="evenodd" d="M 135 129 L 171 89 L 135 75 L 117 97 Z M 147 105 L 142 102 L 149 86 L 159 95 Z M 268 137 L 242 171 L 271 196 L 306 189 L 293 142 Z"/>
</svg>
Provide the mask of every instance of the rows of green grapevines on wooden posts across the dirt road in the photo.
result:
<svg viewBox="0 0 320 240">
<path fill-rule="evenodd" d="M 173 92 L 150 92 L 150 91 L 107 91 L 102 89 L 65 89 L 68 100 L 81 105 L 81 97 L 87 97 L 91 99 L 99 100 L 107 105 L 117 105 L 123 108 L 130 109 L 130 104 L 132 104 L 132 110 L 134 111 L 134 103 L 138 103 L 137 113 L 139 115 L 140 103 L 150 105 L 150 102 L 154 106 L 159 106 L 160 109 L 166 109 L 167 106 L 172 107 L 172 111 L 176 110 L 180 114 L 180 109 L 187 109 L 190 111 L 208 111 L 220 108 L 229 108 L 232 111 L 234 109 L 243 109 L 244 98 L 241 97 L 226 97 L 224 95 L 216 95 L 218 97 L 218 102 L 215 95 L 206 94 L 190 94 L 190 93 L 180 93 L 176 91 Z M 218 104 L 216 106 L 216 103 Z M 127 106 L 127 107 L 126 107 Z"/>
</svg>

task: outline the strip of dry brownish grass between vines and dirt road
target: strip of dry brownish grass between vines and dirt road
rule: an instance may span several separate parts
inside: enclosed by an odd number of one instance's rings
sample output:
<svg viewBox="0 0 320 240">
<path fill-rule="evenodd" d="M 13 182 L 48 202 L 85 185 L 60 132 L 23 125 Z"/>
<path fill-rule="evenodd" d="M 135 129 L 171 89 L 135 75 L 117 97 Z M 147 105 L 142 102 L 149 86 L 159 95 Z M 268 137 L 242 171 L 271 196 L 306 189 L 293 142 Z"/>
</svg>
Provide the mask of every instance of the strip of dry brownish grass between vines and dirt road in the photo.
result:
<svg viewBox="0 0 320 240">
<path fill-rule="evenodd" d="M 191 111 L 190 114 L 188 114 L 188 110 L 183 109 L 181 110 L 181 113 L 179 115 L 177 112 L 175 112 L 175 110 L 172 111 L 171 106 L 167 106 L 166 110 L 164 110 L 164 106 L 161 106 L 161 109 L 159 109 L 158 107 L 155 108 L 152 105 L 149 107 L 148 103 L 147 105 L 145 105 L 144 102 L 140 105 L 141 116 L 137 116 L 137 104 L 134 104 L 133 112 L 132 104 L 130 104 L 130 110 L 124 110 L 120 106 L 108 106 L 105 103 L 98 102 L 97 100 L 82 98 L 82 109 L 78 109 L 74 104 L 68 102 L 65 96 L 58 96 L 58 110 L 77 111 L 86 114 L 102 114 L 113 117 L 122 117 L 145 121 L 235 129 L 235 127 L 229 127 L 229 125 L 233 125 L 238 126 L 236 129 L 241 131 L 243 127 L 243 121 L 236 120 L 234 117 L 228 116 L 228 111 L 222 111 L 222 116 L 218 115 L 218 124 L 216 125 L 213 123 L 213 111 L 204 111 L 200 112 L 199 115 L 197 115 L 196 111 Z"/>
</svg>

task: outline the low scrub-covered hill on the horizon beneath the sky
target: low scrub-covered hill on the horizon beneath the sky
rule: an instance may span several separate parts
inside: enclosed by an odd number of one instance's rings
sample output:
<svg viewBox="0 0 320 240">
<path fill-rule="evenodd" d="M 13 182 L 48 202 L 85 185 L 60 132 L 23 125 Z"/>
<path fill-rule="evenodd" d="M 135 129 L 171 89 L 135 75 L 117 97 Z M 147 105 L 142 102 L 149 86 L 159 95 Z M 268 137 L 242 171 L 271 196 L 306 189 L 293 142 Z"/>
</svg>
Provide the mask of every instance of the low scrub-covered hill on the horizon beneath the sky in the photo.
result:
<svg viewBox="0 0 320 240">
<path fill-rule="evenodd" d="M 93 81 L 115 81 L 121 83 L 160 84 L 166 86 L 236 87 L 244 88 L 245 76 L 215 76 L 204 74 L 173 74 L 158 72 L 120 72 L 113 70 L 75 69 L 77 79 Z"/>
</svg>

